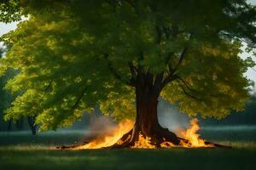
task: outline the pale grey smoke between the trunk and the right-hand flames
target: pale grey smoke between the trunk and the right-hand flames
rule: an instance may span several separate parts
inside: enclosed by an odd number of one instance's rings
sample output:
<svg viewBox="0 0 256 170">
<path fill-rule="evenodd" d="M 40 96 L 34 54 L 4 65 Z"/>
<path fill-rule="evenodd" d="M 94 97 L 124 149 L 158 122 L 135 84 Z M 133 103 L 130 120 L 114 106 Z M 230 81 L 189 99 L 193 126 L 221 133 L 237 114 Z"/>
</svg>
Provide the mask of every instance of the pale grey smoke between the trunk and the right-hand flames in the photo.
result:
<svg viewBox="0 0 256 170">
<path fill-rule="evenodd" d="M 162 127 L 175 133 L 181 128 L 189 127 L 189 116 L 177 111 L 174 105 L 164 100 L 160 100 L 158 105 L 158 120 Z"/>
</svg>

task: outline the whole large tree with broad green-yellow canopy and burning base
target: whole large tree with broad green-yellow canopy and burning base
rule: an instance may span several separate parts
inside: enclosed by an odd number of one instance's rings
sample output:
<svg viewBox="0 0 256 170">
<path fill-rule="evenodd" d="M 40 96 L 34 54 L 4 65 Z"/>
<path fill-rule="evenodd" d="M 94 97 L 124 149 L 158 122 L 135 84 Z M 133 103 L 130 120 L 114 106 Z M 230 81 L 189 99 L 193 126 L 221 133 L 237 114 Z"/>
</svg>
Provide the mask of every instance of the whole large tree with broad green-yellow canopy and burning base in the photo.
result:
<svg viewBox="0 0 256 170">
<path fill-rule="evenodd" d="M 210 4 L 210 5 L 209 5 Z M 180 140 L 160 126 L 158 99 L 195 116 L 241 111 L 256 42 L 256 10 L 244 0 L 26 1 L 29 20 L 2 37 L 11 45 L 1 72 L 20 73 L 6 88 L 23 92 L 5 118 L 37 116 L 41 130 L 71 125 L 96 105 L 134 117 L 121 147 L 141 133 L 156 145 Z"/>
</svg>

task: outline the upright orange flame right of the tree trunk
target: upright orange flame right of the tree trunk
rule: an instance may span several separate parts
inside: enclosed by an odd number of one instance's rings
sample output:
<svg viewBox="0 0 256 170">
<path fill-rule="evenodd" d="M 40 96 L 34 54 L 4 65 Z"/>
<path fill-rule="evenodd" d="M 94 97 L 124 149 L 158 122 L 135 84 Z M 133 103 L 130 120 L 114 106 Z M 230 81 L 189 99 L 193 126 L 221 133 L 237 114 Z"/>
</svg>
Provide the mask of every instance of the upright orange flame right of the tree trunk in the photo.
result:
<svg viewBox="0 0 256 170">
<path fill-rule="evenodd" d="M 190 127 L 187 130 L 183 130 L 181 135 L 184 139 L 189 140 L 188 143 L 183 143 L 184 147 L 213 147 L 212 144 L 206 144 L 204 139 L 200 138 L 200 134 L 197 131 L 200 129 L 198 125 L 198 120 L 192 119 L 190 121 Z"/>
</svg>

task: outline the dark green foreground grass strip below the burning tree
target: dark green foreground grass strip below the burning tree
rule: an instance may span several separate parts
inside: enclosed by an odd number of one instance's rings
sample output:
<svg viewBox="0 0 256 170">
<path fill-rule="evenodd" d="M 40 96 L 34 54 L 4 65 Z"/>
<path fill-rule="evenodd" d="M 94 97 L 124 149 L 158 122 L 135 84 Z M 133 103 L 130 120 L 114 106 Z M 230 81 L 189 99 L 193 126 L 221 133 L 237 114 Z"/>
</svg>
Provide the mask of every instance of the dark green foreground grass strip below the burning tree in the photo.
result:
<svg viewBox="0 0 256 170">
<path fill-rule="evenodd" d="M 0 150 L 1 169 L 255 169 L 255 150 Z"/>
</svg>

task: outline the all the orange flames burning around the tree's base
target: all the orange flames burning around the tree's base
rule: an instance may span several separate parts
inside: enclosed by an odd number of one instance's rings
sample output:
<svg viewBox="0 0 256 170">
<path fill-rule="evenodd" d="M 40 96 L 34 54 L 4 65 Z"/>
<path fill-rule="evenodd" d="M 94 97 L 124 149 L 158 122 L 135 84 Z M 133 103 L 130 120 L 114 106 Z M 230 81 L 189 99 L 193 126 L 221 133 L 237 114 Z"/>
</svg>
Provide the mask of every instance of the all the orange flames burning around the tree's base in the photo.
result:
<svg viewBox="0 0 256 170">
<path fill-rule="evenodd" d="M 119 140 L 125 133 L 128 133 L 134 122 L 126 119 L 120 122 L 116 127 L 113 127 L 109 133 L 105 134 L 103 137 L 96 138 L 92 140 L 89 144 L 84 144 L 75 148 L 75 150 L 83 149 L 100 149 L 104 147 L 111 146 L 113 144 L 122 144 L 124 141 Z M 173 148 L 173 147 L 214 147 L 212 144 L 206 144 L 205 140 L 200 138 L 200 134 L 197 131 L 200 129 L 198 125 L 198 120 L 193 119 L 190 121 L 190 127 L 186 130 L 182 130 L 180 135 L 183 139 L 188 140 L 187 142 L 181 141 L 179 145 L 172 144 L 171 142 L 165 141 L 160 144 L 161 148 Z M 135 142 L 131 148 L 144 148 L 144 149 L 155 149 L 156 144 L 151 141 L 150 137 L 144 137 L 142 133 L 139 134 L 138 140 Z"/>
</svg>

